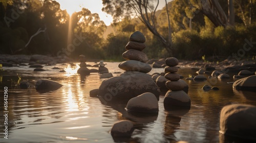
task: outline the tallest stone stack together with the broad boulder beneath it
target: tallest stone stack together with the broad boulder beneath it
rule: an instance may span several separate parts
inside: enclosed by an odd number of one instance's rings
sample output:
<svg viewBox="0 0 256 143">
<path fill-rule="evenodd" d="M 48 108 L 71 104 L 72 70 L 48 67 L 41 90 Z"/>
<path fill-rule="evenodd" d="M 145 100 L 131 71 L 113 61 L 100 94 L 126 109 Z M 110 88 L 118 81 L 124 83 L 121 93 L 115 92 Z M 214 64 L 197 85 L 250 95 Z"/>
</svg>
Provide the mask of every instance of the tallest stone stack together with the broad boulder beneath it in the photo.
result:
<svg viewBox="0 0 256 143">
<path fill-rule="evenodd" d="M 152 67 L 146 62 L 146 55 L 141 52 L 145 49 L 144 35 L 136 31 L 130 36 L 125 46 L 126 52 L 118 67 L 125 70 L 123 74 L 104 80 L 98 90 L 98 98 L 103 104 L 118 99 L 130 100 L 145 92 L 153 93 L 159 99 L 160 90 L 150 75 Z"/>
</svg>

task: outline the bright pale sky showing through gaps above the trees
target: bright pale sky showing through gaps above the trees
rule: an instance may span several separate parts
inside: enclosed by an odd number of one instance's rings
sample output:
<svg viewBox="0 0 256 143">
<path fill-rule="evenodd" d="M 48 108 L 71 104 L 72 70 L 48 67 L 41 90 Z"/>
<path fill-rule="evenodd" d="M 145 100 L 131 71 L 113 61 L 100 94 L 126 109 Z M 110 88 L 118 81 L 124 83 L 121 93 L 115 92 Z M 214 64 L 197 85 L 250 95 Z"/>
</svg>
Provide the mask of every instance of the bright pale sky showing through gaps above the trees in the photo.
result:
<svg viewBox="0 0 256 143">
<path fill-rule="evenodd" d="M 82 8 L 87 8 L 91 13 L 98 13 L 102 21 L 106 26 L 109 26 L 113 21 L 111 15 L 102 12 L 103 7 L 101 0 L 55 0 L 60 4 L 61 10 L 67 10 L 69 14 L 73 12 L 81 11 Z M 172 0 L 167 0 L 167 3 Z M 165 6 L 165 0 L 159 0 L 158 9 L 162 9 Z"/>
</svg>

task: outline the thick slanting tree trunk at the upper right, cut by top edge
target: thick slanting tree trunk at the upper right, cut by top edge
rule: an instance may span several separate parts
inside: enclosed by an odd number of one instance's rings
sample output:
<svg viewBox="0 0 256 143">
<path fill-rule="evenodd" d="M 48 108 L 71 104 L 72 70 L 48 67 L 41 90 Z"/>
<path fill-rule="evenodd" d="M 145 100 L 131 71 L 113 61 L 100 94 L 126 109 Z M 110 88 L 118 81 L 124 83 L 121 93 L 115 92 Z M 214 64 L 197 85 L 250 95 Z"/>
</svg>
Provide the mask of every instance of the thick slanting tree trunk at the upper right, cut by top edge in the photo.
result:
<svg viewBox="0 0 256 143">
<path fill-rule="evenodd" d="M 202 12 L 216 27 L 228 25 L 228 19 L 218 0 L 201 0 Z"/>
</svg>

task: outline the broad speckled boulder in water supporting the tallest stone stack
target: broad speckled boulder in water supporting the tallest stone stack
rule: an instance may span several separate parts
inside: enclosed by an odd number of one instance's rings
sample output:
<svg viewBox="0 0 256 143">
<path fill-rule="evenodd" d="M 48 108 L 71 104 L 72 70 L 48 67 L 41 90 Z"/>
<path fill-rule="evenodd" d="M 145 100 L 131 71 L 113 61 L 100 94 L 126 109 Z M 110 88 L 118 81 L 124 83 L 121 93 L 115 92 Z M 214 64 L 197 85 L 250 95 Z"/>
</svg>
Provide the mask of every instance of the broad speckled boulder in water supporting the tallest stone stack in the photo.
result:
<svg viewBox="0 0 256 143">
<path fill-rule="evenodd" d="M 145 92 L 151 92 L 159 99 L 160 89 L 150 75 L 126 71 L 120 76 L 104 80 L 99 86 L 98 97 L 106 103 L 112 99 L 130 100 Z"/>
</svg>

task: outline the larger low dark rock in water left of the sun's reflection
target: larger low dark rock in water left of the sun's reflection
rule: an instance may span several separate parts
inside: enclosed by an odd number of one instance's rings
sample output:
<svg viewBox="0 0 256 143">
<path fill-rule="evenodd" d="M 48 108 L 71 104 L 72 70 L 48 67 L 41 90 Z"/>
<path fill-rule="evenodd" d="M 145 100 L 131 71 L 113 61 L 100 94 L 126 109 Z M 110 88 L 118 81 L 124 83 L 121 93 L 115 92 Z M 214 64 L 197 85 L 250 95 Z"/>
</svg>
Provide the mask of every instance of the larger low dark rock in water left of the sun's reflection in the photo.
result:
<svg viewBox="0 0 256 143">
<path fill-rule="evenodd" d="M 39 79 L 35 84 L 35 89 L 37 91 L 53 91 L 59 89 L 61 86 L 62 85 L 57 83 L 56 81 Z"/>
</svg>

